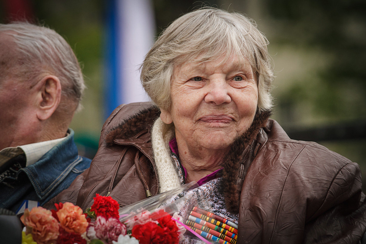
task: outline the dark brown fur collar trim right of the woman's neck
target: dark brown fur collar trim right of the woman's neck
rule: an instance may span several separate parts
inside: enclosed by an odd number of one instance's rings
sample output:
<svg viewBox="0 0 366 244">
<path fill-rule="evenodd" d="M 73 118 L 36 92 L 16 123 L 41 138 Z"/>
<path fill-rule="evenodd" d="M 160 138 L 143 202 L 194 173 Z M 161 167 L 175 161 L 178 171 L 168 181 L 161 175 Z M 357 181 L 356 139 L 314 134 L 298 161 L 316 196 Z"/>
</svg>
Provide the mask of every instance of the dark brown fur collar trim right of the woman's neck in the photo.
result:
<svg viewBox="0 0 366 244">
<path fill-rule="evenodd" d="M 243 179 L 240 179 L 239 174 L 245 156 L 243 152 L 247 146 L 253 143 L 259 129 L 265 126 L 270 115 L 270 110 L 257 113 L 249 129 L 234 141 L 229 153 L 224 157 L 221 190 L 224 195 L 226 208 L 231 213 L 239 213 L 240 192 L 243 183 Z"/>
</svg>

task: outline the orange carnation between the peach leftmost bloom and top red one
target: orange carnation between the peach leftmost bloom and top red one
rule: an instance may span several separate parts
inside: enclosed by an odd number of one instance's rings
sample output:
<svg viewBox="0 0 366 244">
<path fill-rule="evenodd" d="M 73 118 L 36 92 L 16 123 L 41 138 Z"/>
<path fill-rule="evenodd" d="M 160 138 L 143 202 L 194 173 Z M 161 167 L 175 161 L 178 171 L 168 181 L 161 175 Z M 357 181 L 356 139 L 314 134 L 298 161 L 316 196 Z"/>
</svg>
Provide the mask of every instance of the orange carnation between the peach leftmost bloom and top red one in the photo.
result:
<svg viewBox="0 0 366 244">
<path fill-rule="evenodd" d="M 60 225 L 67 232 L 82 234 L 86 231 L 88 222 L 85 218 L 85 214 L 83 214 L 83 210 L 79 206 L 66 202 L 56 214 L 59 218 Z"/>
</svg>

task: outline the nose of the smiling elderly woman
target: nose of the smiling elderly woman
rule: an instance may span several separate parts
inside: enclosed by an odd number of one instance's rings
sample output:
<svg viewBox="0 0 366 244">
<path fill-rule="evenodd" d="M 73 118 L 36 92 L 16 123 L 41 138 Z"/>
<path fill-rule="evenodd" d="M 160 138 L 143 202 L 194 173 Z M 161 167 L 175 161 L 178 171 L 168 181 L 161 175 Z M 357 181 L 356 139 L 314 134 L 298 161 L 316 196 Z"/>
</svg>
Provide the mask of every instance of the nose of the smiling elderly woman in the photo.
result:
<svg viewBox="0 0 366 244">
<path fill-rule="evenodd" d="M 220 105 L 231 102 L 231 97 L 228 94 L 228 84 L 226 81 L 212 82 L 208 87 L 208 92 L 205 96 L 205 102 Z"/>
</svg>

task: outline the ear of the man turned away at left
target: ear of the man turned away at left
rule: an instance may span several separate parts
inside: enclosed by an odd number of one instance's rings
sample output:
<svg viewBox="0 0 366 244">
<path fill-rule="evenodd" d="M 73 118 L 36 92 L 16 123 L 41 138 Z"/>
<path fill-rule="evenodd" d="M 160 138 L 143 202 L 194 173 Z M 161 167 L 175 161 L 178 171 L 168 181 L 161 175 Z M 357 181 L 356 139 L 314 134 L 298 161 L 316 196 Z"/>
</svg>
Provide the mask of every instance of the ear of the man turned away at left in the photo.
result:
<svg viewBox="0 0 366 244">
<path fill-rule="evenodd" d="M 47 75 L 37 85 L 37 118 L 46 120 L 52 116 L 61 101 L 61 83 L 54 75 Z"/>
</svg>

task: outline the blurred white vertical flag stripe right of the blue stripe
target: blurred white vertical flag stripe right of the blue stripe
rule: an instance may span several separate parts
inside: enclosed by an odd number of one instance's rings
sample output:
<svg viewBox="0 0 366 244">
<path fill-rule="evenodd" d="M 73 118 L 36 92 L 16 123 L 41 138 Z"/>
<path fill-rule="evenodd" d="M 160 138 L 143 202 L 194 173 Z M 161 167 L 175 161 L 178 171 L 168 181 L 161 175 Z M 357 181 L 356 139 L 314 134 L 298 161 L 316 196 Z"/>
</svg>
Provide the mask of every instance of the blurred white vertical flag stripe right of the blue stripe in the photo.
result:
<svg viewBox="0 0 366 244">
<path fill-rule="evenodd" d="M 120 103 L 149 101 L 140 82 L 139 65 L 150 49 L 155 34 L 155 22 L 150 0 L 117 0 L 117 19 L 121 33 L 118 42 L 121 89 Z"/>
</svg>

